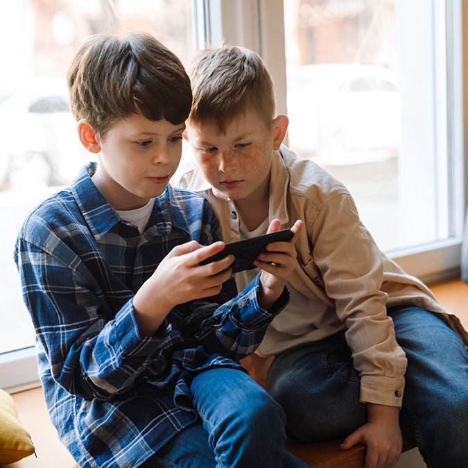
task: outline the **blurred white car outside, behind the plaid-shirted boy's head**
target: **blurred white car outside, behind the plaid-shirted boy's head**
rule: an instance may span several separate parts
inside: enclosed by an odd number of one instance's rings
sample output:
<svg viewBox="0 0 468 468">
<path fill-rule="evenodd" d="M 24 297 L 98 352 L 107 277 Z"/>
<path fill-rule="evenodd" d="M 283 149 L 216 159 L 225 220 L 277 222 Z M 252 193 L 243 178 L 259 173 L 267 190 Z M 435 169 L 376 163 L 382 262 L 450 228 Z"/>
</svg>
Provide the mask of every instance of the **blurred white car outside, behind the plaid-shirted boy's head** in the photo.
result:
<svg viewBox="0 0 468 468">
<path fill-rule="evenodd" d="M 0 190 L 67 184 L 89 159 L 64 80 L 29 80 L 0 103 L 0 128 Z"/>
</svg>

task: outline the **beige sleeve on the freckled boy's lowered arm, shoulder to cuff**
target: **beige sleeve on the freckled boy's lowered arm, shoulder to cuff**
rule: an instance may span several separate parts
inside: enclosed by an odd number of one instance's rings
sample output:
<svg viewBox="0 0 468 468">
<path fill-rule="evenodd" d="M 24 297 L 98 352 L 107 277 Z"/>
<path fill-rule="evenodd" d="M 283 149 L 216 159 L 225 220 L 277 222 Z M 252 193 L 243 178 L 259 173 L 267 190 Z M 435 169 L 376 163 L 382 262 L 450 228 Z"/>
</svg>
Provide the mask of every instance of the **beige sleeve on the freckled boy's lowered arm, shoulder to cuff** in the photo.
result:
<svg viewBox="0 0 468 468">
<path fill-rule="evenodd" d="M 382 291 L 383 260 L 349 193 L 337 193 L 309 225 L 325 293 L 347 326 L 361 401 L 401 406 L 406 356 L 397 344 Z"/>
</svg>

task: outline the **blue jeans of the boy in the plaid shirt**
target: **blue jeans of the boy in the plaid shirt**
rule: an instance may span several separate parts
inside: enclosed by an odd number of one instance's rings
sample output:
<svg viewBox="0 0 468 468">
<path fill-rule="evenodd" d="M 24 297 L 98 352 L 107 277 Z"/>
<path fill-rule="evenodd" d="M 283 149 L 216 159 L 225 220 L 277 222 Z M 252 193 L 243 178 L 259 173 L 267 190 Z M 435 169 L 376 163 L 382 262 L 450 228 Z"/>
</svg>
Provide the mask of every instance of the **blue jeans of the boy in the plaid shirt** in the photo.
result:
<svg viewBox="0 0 468 468">
<path fill-rule="evenodd" d="M 284 449 L 284 412 L 245 372 L 216 368 L 191 383 L 201 421 L 173 437 L 144 468 L 309 467 Z"/>
</svg>

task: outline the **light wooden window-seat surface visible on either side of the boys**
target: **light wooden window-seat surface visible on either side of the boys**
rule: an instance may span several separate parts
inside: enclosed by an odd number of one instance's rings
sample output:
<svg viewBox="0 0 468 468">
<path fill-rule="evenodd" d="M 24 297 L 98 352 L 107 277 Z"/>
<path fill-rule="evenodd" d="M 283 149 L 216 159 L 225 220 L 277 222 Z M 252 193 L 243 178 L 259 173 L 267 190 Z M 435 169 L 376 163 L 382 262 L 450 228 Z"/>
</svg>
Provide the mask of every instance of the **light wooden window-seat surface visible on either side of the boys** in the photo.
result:
<svg viewBox="0 0 468 468">
<path fill-rule="evenodd" d="M 468 284 L 460 280 L 445 281 L 431 285 L 431 290 L 439 302 L 448 311 L 456 313 L 468 329 Z M 15 393 L 12 397 L 18 406 L 21 422 L 33 437 L 37 458 L 32 455 L 21 462 L 6 466 L 9 468 L 75 468 L 77 465 L 58 441 L 55 428 L 49 421 L 42 389 L 35 388 Z"/>
</svg>

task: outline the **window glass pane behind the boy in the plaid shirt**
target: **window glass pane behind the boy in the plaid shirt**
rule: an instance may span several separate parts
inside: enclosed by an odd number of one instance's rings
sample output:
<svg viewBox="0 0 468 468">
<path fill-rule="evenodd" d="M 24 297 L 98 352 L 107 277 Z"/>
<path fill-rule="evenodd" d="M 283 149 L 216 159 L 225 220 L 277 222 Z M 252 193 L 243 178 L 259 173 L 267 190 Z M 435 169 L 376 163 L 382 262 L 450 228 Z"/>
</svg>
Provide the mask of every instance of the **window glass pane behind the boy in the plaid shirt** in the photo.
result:
<svg viewBox="0 0 468 468">
<path fill-rule="evenodd" d="M 80 147 L 65 76 L 94 33 L 152 33 L 187 64 L 193 55 L 187 0 L 18 0 L 0 3 L 0 353 L 33 345 L 34 331 L 12 261 L 29 211 L 78 174 Z M 7 222 L 5 220 L 8 220 Z"/>
</svg>

